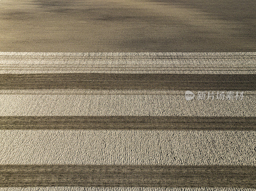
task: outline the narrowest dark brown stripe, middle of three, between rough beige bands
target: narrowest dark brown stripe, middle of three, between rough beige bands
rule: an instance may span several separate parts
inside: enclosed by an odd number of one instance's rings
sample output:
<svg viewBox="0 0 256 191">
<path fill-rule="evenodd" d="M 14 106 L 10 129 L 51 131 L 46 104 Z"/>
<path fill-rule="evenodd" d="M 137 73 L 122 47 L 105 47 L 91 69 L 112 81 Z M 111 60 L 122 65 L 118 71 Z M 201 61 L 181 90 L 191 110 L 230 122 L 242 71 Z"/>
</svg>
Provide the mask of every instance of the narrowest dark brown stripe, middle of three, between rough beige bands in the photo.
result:
<svg viewBox="0 0 256 191">
<path fill-rule="evenodd" d="M 0 117 L 0 129 L 256 130 L 255 117 Z"/>
</svg>

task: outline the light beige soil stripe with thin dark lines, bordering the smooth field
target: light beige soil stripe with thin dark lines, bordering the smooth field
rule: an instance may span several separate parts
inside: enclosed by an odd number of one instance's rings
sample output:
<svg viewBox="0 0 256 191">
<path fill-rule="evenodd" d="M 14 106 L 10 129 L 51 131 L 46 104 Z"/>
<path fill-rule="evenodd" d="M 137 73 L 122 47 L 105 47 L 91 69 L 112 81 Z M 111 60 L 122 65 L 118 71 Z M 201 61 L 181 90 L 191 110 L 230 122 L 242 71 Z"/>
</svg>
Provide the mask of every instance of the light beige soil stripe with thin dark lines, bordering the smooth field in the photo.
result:
<svg viewBox="0 0 256 191">
<path fill-rule="evenodd" d="M 255 52 L 29 53 L 0 52 L 0 74 L 173 73 L 255 74 Z"/>
</svg>

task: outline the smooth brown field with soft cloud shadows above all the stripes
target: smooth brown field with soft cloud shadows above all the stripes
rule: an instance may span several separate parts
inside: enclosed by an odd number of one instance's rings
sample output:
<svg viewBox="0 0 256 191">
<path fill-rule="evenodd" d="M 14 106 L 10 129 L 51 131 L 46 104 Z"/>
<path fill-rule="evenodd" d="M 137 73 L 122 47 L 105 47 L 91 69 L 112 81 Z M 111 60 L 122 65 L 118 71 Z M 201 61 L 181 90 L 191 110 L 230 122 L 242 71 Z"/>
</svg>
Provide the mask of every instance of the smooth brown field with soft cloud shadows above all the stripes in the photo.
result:
<svg viewBox="0 0 256 191">
<path fill-rule="evenodd" d="M 2 0 L 0 51 L 256 51 L 254 0 Z"/>
</svg>

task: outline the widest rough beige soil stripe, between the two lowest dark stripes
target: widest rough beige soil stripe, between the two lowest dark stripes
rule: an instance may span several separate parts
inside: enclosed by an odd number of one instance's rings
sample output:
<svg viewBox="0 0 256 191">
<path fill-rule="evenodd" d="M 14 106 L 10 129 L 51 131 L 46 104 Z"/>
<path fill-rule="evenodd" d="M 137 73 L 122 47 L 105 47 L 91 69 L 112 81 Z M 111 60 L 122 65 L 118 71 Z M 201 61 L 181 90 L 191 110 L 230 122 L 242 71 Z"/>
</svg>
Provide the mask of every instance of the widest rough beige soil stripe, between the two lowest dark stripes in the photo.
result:
<svg viewBox="0 0 256 191">
<path fill-rule="evenodd" d="M 0 165 L 253 165 L 256 131 L 1 130 Z"/>
</svg>

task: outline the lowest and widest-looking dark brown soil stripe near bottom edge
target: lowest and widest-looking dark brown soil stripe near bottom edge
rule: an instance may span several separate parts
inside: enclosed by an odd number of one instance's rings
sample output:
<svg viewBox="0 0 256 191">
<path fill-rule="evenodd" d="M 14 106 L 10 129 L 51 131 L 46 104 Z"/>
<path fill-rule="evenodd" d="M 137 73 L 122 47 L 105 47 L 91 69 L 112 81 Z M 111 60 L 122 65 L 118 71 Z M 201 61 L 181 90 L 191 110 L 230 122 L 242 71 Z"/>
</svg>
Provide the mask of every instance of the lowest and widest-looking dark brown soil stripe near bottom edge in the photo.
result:
<svg viewBox="0 0 256 191">
<path fill-rule="evenodd" d="M 255 166 L 0 165 L 1 187 L 256 187 Z"/>
</svg>

